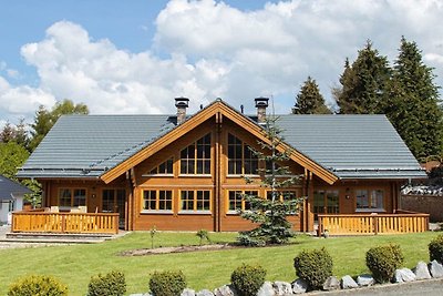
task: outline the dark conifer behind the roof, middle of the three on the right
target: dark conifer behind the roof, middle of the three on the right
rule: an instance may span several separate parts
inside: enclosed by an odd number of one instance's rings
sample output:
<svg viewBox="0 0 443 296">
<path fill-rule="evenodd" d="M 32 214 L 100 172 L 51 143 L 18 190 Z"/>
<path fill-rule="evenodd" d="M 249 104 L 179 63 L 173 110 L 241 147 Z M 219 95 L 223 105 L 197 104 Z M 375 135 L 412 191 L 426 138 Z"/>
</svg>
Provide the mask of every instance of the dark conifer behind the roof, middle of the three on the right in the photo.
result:
<svg viewBox="0 0 443 296">
<path fill-rule="evenodd" d="M 349 64 L 340 78 L 341 89 L 333 90 L 342 114 L 377 114 L 382 112 L 382 95 L 390 79 L 388 59 L 372 48 L 371 41 L 359 51 L 357 60 Z"/>
</svg>

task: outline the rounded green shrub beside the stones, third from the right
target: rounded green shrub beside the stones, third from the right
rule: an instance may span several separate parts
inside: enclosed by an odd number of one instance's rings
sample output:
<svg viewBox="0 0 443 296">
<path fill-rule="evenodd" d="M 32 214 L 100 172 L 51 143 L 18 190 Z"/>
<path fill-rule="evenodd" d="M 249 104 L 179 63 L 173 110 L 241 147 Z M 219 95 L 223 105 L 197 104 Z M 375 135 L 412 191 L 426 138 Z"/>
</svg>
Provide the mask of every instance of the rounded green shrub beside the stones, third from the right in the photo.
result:
<svg viewBox="0 0 443 296">
<path fill-rule="evenodd" d="M 328 251 L 302 251 L 293 258 L 297 276 L 309 284 L 310 289 L 320 289 L 324 282 L 332 275 L 332 257 Z"/>
</svg>

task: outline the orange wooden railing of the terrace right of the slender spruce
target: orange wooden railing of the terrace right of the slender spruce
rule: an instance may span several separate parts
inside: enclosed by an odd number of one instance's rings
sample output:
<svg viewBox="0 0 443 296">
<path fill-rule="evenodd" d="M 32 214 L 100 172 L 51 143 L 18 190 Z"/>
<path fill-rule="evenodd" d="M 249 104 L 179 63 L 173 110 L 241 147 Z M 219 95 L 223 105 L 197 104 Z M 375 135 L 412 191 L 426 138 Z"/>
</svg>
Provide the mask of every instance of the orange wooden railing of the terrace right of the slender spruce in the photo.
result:
<svg viewBox="0 0 443 296">
<path fill-rule="evenodd" d="M 429 231 L 429 214 L 319 214 L 319 234 L 378 235 Z"/>
</svg>

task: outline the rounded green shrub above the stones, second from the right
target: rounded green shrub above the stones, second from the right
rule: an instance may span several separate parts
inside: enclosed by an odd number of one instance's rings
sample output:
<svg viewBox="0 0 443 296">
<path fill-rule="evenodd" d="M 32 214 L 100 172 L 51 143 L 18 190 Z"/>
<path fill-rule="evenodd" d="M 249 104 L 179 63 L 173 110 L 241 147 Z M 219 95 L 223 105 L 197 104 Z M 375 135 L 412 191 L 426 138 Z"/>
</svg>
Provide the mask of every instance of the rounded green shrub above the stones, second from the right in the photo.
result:
<svg viewBox="0 0 443 296">
<path fill-rule="evenodd" d="M 389 282 L 402 263 L 403 254 L 399 245 L 372 247 L 367 252 L 367 266 L 380 284 Z"/>
</svg>

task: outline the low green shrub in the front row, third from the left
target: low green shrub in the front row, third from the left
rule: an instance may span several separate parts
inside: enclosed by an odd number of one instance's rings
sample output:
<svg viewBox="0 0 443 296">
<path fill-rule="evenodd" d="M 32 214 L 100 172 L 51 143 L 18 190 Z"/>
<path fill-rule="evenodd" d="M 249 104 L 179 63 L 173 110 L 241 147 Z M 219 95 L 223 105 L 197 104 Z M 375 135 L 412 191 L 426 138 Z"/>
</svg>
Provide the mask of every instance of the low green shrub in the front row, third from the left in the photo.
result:
<svg viewBox="0 0 443 296">
<path fill-rule="evenodd" d="M 150 289 L 154 296 L 179 296 L 186 288 L 186 278 L 182 271 L 154 272 L 150 279 Z"/>
</svg>

